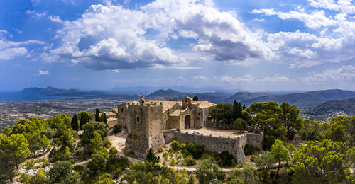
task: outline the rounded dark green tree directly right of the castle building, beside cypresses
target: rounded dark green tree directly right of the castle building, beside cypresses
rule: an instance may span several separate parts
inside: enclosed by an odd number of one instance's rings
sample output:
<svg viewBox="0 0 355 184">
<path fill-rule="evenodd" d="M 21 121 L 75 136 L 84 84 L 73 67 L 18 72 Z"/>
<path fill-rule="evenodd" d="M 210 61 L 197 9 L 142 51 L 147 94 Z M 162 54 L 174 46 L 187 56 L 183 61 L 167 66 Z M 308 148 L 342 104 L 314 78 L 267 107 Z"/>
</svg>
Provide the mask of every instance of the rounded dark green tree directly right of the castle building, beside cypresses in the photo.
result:
<svg viewBox="0 0 355 184">
<path fill-rule="evenodd" d="M 218 103 L 212 108 L 211 117 L 214 120 L 230 124 L 233 120 L 233 106 L 229 103 Z"/>
</svg>

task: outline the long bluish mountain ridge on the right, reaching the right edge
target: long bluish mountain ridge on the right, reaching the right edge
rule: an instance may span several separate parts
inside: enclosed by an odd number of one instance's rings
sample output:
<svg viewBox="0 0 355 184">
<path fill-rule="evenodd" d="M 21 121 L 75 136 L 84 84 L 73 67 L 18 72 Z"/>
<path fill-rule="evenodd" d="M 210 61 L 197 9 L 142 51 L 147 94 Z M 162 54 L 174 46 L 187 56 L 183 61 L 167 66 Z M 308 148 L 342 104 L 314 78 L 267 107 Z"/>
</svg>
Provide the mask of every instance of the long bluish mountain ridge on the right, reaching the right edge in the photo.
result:
<svg viewBox="0 0 355 184">
<path fill-rule="evenodd" d="M 251 104 L 254 102 L 275 101 L 277 103 L 288 102 L 292 105 L 300 107 L 320 105 L 329 100 L 342 100 L 344 98 L 355 97 L 353 91 L 343 91 L 339 89 L 331 89 L 324 91 L 310 91 L 305 93 L 290 93 L 285 95 L 270 95 L 242 100 L 241 103 Z"/>
</svg>

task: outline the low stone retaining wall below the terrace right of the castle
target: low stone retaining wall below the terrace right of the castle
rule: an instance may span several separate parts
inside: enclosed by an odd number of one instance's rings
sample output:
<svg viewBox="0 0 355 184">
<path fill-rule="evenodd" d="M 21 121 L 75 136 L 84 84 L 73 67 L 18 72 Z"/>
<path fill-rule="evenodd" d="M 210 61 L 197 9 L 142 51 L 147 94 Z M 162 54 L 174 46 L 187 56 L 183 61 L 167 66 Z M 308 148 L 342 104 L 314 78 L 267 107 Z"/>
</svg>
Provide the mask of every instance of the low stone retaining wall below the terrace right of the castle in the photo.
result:
<svg viewBox="0 0 355 184">
<path fill-rule="evenodd" d="M 203 145 L 207 151 L 217 153 L 228 151 L 238 163 L 246 161 L 243 151 L 246 144 L 245 134 L 235 137 L 214 137 L 212 135 L 175 132 L 175 140 L 180 143 L 194 142 Z"/>
</svg>

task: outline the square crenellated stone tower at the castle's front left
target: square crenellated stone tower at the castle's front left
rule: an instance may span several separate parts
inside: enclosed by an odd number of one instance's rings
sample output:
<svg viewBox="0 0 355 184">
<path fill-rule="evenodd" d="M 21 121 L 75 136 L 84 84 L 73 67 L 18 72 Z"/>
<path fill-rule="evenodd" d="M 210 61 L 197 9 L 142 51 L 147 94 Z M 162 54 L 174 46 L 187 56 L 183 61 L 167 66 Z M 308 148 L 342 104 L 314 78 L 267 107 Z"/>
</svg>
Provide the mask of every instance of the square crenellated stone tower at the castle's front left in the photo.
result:
<svg viewBox="0 0 355 184">
<path fill-rule="evenodd" d="M 145 101 L 129 103 L 125 149 L 137 156 L 146 156 L 152 148 L 158 151 L 165 144 L 163 137 L 163 104 Z"/>
</svg>

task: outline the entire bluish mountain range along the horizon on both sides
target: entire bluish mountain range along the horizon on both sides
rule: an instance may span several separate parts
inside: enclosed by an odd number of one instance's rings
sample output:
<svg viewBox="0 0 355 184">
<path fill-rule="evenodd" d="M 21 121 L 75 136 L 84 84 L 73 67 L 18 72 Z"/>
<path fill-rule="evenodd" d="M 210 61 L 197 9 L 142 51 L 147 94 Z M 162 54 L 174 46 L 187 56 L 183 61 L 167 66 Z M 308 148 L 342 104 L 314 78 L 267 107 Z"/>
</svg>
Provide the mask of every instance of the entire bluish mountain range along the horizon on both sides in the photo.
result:
<svg viewBox="0 0 355 184">
<path fill-rule="evenodd" d="M 136 94 L 122 94 L 116 92 L 102 91 L 80 91 L 78 89 L 58 89 L 52 86 L 47 88 L 25 88 L 21 93 L 37 93 L 47 96 L 70 96 L 78 98 L 121 98 L 126 100 L 135 100 L 138 98 Z M 234 100 L 240 101 L 243 104 L 250 105 L 254 102 L 275 101 L 277 103 L 288 102 L 291 105 L 298 107 L 315 107 L 329 100 L 344 100 L 346 98 L 355 97 L 354 91 L 344 91 L 339 89 L 330 89 L 323 91 L 309 91 L 304 93 L 288 93 L 288 94 L 273 94 L 266 92 L 237 92 L 231 96 L 225 92 L 180 92 L 168 88 L 167 90 L 159 89 L 149 94 L 149 100 L 181 100 L 186 96 L 193 98 L 198 96 L 200 100 L 209 100 L 213 103 L 233 103 Z"/>
</svg>

